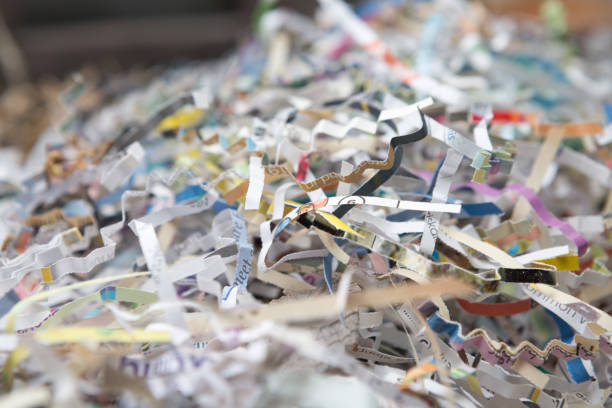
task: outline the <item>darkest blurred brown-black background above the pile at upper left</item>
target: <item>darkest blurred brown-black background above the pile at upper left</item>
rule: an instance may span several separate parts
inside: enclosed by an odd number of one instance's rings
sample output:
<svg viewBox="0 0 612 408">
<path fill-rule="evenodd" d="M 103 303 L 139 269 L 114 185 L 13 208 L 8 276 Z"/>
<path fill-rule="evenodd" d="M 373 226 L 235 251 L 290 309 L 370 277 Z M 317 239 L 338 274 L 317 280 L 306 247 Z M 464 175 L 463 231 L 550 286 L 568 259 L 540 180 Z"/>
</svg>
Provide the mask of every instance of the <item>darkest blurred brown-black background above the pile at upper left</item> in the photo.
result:
<svg viewBox="0 0 612 408">
<path fill-rule="evenodd" d="M 312 14 L 316 1 L 281 4 Z M 89 64 L 125 68 L 220 56 L 251 31 L 255 6 L 255 0 L 2 0 L 0 12 L 25 64 L 12 75 L 37 79 Z"/>
</svg>

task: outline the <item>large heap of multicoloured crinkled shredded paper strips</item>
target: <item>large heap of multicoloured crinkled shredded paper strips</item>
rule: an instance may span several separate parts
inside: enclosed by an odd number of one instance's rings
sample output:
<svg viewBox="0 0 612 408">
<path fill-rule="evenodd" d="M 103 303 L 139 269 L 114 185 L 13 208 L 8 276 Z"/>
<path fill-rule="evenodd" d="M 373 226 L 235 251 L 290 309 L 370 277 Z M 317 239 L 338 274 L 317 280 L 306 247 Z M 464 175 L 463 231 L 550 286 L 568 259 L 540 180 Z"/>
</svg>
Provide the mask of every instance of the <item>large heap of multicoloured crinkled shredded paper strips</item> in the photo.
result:
<svg viewBox="0 0 612 408">
<path fill-rule="evenodd" d="M 0 154 L 0 406 L 611 405 L 612 36 L 318 7 Z"/>
</svg>

